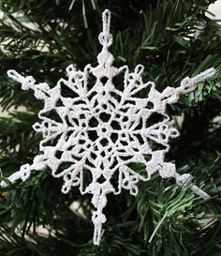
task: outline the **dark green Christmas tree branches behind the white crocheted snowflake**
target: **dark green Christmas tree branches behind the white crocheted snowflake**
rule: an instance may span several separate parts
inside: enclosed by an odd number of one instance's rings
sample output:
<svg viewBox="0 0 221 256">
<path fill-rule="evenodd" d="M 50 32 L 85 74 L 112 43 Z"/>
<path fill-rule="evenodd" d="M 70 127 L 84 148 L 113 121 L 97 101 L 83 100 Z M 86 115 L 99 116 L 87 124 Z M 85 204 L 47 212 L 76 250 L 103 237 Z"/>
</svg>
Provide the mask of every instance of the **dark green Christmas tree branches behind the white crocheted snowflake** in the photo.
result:
<svg viewBox="0 0 221 256">
<path fill-rule="evenodd" d="M 1 181 L 7 183 L 1 188 L 1 255 L 221 255 L 221 38 L 220 25 L 207 17 L 213 2 L 1 1 L 0 102 L 7 113 L 0 117 Z M 193 184 L 210 198 L 155 173 L 139 183 L 136 197 L 126 190 L 108 196 L 97 247 L 91 195 L 82 196 L 77 188 L 63 194 L 62 179 L 54 179 L 48 168 L 23 183 L 7 180 L 39 152 L 41 135 L 32 126 L 42 102 L 6 73 L 14 68 L 54 87 L 71 64 L 95 67 L 105 8 L 112 15 L 115 67 L 142 64 L 143 80 L 155 82 L 160 92 L 206 68 L 214 67 L 216 75 L 167 109 L 181 136 L 172 141 L 166 160 L 176 163 L 178 173 L 191 173 Z M 122 83 L 115 81 L 119 88 Z M 146 96 L 142 90 L 140 97 Z M 144 171 L 139 164 L 133 169 Z"/>
</svg>

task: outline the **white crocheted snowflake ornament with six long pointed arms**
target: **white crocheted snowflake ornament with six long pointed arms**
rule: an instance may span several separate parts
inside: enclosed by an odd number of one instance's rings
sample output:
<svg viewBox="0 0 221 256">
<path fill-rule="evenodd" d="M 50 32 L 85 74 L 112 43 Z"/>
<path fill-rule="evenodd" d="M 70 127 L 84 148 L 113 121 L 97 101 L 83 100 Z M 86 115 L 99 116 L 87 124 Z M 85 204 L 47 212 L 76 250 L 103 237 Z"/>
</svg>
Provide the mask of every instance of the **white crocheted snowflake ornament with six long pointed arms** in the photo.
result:
<svg viewBox="0 0 221 256">
<path fill-rule="evenodd" d="M 70 65 L 66 68 L 68 79 L 60 79 L 53 88 L 47 83 L 36 83 L 31 76 L 23 77 L 15 70 L 7 71 L 10 78 L 22 83 L 23 90 L 33 89 L 35 97 L 44 101 L 44 108 L 38 113 L 41 122 L 34 125 L 43 136 L 39 145 L 41 154 L 8 179 L 25 181 L 33 171 L 49 167 L 53 177 L 63 177 L 64 193 L 79 187 L 81 194 L 92 194 L 96 208 L 92 217 L 96 245 L 100 243 L 102 224 L 106 221 L 103 209 L 109 193 L 119 194 L 125 188 L 137 195 L 138 182 L 149 180 L 156 172 L 162 178 L 174 177 L 179 185 L 190 177 L 176 173 L 175 165 L 164 161 L 169 139 L 179 135 L 176 128 L 169 128 L 166 105 L 177 102 L 181 93 L 193 91 L 197 83 L 214 75 L 214 68 L 210 68 L 195 78 L 184 78 L 177 88 L 167 87 L 159 93 L 155 83 L 142 81 L 143 66 L 138 65 L 133 72 L 127 66 L 112 66 L 110 23 L 111 12 L 105 10 L 98 65 L 95 68 L 87 65 L 83 71 Z M 113 78 L 119 74 L 124 75 L 122 90 L 113 84 Z M 90 77 L 96 79 L 95 84 L 90 83 Z M 69 97 L 62 94 L 65 87 L 71 91 Z M 139 98 L 144 88 L 149 95 Z M 149 122 L 155 113 L 162 120 Z M 133 170 L 133 163 L 144 165 L 146 174 Z M 190 187 L 200 196 L 208 196 L 196 186 Z"/>
</svg>

